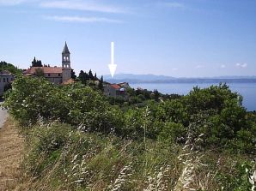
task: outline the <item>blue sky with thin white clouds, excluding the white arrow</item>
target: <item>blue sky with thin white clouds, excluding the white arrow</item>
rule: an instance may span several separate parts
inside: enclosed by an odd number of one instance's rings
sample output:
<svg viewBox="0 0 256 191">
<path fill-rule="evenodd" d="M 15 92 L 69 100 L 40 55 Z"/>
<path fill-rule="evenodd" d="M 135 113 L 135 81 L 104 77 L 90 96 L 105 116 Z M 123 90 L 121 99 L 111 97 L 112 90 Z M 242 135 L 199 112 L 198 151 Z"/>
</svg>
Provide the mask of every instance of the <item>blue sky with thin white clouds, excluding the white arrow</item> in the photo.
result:
<svg viewBox="0 0 256 191">
<path fill-rule="evenodd" d="M 0 0 L 0 60 L 34 57 L 76 74 L 256 75 L 255 0 Z"/>
</svg>

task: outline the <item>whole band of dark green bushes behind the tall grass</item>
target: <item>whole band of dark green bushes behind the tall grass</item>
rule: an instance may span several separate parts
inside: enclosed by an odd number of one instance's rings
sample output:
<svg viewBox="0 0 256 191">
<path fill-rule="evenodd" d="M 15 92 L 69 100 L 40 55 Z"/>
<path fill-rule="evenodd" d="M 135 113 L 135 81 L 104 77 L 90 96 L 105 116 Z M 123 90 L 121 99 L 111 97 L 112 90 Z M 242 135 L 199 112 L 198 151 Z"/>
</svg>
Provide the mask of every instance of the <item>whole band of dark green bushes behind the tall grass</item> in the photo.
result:
<svg viewBox="0 0 256 191">
<path fill-rule="evenodd" d="M 137 98 L 145 97 L 138 93 Z M 140 107 L 137 104 L 125 110 L 109 103 L 122 105 L 125 99 L 107 101 L 100 92 L 81 83 L 57 86 L 45 79 L 21 77 L 14 82 L 5 105 L 22 124 L 43 118 L 133 140 L 147 137 L 180 143 L 193 132 L 194 137 L 204 134 L 196 143 L 200 148 L 256 152 L 253 114 L 247 113 L 239 94 L 225 84 L 202 90 L 195 87 L 186 96 L 161 103 L 144 100 Z"/>
</svg>

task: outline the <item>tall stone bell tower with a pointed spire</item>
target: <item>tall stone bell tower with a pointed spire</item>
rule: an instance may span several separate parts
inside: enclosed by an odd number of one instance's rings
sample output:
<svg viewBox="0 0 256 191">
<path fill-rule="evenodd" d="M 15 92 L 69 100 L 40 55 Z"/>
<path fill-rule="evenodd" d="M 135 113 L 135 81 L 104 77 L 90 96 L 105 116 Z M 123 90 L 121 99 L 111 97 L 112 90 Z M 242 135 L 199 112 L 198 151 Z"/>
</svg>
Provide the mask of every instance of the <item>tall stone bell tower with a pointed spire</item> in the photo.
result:
<svg viewBox="0 0 256 191">
<path fill-rule="evenodd" d="M 68 81 L 71 78 L 71 66 L 70 66 L 70 50 L 67 42 L 65 42 L 64 49 L 62 51 L 62 81 Z"/>
</svg>

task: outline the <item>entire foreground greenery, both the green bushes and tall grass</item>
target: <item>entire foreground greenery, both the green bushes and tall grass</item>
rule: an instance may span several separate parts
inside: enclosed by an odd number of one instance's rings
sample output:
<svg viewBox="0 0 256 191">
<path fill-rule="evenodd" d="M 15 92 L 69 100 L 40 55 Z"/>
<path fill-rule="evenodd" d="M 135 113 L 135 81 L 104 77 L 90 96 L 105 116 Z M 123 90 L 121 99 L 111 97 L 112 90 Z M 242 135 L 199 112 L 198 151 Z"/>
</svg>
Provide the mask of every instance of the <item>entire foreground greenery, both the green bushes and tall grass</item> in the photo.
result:
<svg viewBox="0 0 256 191">
<path fill-rule="evenodd" d="M 19 77 L 13 87 L 5 106 L 27 134 L 30 190 L 253 189 L 256 116 L 225 84 L 144 94 L 125 110 L 82 83 Z"/>
</svg>

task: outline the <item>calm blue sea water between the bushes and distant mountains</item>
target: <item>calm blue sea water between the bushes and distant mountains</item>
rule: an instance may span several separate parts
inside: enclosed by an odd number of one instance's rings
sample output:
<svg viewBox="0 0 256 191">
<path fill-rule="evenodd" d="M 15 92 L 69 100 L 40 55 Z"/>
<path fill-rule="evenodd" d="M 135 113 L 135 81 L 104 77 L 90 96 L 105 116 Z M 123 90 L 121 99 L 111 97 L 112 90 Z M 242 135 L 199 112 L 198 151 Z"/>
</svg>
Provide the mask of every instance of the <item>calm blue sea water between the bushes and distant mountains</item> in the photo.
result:
<svg viewBox="0 0 256 191">
<path fill-rule="evenodd" d="M 194 84 L 194 83 L 143 83 L 143 84 L 130 84 L 131 87 L 137 88 L 141 87 L 143 89 L 158 90 L 160 93 L 177 93 L 180 95 L 186 95 L 192 90 L 192 87 L 210 87 L 211 85 L 218 84 Z M 230 89 L 234 92 L 240 93 L 243 96 L 243 105 L 247 110 L 256 110 L 256 83 L 232 83 L 228 84 Z"/>
</svg>

